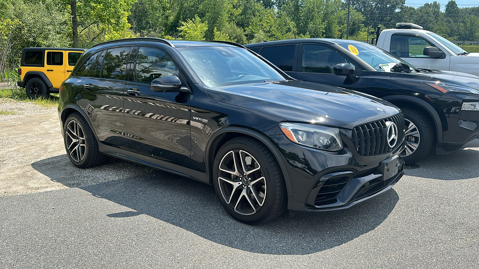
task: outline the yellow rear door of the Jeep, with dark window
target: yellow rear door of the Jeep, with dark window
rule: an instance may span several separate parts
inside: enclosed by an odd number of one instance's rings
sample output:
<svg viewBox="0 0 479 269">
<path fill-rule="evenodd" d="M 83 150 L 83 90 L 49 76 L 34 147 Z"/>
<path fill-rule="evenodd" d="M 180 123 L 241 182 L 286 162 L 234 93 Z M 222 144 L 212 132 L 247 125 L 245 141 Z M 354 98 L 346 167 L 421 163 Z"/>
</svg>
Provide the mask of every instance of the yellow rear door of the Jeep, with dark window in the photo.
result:
<svg viewBox="0 0 479 269">
<path fill-rule="evenodd" d="M 65 80 L 65 51 L 46 50 L 45 51 L 45 75 L 50 80 L 53 88 L 60 88 L 60 84 Z"/>
</svg>

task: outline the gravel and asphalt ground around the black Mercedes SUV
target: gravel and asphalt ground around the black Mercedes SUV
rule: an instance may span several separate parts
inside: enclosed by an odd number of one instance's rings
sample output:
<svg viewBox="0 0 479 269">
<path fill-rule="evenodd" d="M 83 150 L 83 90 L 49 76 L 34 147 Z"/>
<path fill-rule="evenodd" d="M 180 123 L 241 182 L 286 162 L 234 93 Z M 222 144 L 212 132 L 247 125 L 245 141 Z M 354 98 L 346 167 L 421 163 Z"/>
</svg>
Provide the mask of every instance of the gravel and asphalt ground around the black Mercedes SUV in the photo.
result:
<svg viewBox="0 0 479 269">
<path fill-rule="evenodd" d="M 75 168 L 57 109 L 0 99 L 0 268 L 477 268 L 479 148 L 335 213 L 231 219 L 213 187 L 108 159 Z"/>
</svg>

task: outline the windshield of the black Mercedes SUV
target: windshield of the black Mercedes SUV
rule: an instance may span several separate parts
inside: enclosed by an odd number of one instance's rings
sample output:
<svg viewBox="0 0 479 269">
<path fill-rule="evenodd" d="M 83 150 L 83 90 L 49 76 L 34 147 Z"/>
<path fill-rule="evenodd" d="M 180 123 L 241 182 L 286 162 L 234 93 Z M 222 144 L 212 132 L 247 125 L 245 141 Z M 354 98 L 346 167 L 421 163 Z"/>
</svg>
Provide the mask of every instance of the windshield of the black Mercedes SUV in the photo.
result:
<svg viewBox="0 0 479 269">
<path fill-rule="evenodd" d="M 208 87 L 286 79 L 261 58 L 239 47 L 181 47 L 178 51 Z"/>
</svg>

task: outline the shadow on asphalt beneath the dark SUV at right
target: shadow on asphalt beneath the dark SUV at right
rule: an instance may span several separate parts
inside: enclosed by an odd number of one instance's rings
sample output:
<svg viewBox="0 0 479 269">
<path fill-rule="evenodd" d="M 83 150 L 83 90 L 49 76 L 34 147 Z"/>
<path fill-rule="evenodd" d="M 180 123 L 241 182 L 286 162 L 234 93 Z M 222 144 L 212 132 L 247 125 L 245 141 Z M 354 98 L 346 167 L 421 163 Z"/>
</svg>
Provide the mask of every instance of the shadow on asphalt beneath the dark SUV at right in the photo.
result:
<svg viewBox="0 0 479 269">
<path fill-rule="evenodd" d="M 479 148 L 466 148 L 448 155 L 430 155 L 416 165 L 406 166 L 404 173 L 439 180 L 474 179 L 479 177 Z"/>
</svg>

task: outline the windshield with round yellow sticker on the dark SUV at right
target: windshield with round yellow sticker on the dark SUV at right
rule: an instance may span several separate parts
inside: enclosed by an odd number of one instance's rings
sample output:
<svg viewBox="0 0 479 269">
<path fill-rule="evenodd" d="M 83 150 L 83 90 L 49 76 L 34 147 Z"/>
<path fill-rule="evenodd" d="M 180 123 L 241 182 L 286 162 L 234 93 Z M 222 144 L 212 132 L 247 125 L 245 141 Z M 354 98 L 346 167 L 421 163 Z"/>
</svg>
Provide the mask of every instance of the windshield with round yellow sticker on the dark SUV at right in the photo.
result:
<svg viewBox="0 0 479 269">
<path fill-rule="evenodd" d="M 369 45 L 366 43 L 355 44 L 339 44 L 343 48 L 349 50 L 352 54 L 365 61 L 368 65 L 376 69 L 377 71 L 391 72 L 391 68 L 397 63 L 401 62 L 410 67 L 411 70 L 417 69 L 411 64 L 405 62 L 403 59 L 398 58 L 375 45 Z"/>
</svg>

